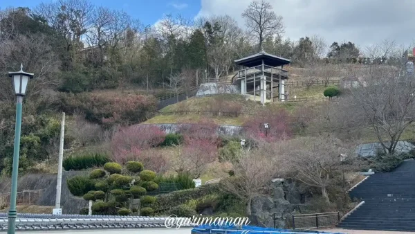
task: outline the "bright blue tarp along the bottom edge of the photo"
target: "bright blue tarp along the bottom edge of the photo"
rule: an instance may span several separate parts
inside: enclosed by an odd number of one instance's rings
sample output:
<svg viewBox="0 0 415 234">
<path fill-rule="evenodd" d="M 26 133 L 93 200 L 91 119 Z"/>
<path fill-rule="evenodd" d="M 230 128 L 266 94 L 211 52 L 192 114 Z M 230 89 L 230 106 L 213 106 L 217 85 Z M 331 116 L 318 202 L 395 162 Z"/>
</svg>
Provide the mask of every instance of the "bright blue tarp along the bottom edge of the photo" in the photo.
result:
<svg viewBox="0 0 415 234">
<path fill-rule="evenodd" d="M 192 234 L 204 234 L 204 233 L 227 233 L 227 234 L 245 234 L 249 231 L 249 234 L 265 234 L 265 233 L 326 233 L 321 231 L 294 231 L 288 229 L 276 229 L 276 228 L 261 228 L 259 226 L 242 226 L 238 228 L 230 225 L 201 225 L 192 229 Z M 343 233 L 326 233 L 326 234 L 343 234 Z"/>
</svg>

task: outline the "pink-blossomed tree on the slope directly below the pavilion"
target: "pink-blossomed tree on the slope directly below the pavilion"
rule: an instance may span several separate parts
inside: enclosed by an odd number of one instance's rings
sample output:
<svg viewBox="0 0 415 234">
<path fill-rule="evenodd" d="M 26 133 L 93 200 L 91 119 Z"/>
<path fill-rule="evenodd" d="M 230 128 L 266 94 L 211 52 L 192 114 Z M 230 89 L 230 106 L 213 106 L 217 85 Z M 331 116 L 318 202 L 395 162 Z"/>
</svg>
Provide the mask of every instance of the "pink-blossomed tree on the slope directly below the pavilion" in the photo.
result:
<svg viewBox="0 0 415 234">
<path fill-rule="evenodd" d="M 288 113 L 284 109 L 277 113 L 261 111 L 246 122 L 246 136 L 268 142 L 291 138 L 288 118 Z M 268 129 L 264 124 L 268 124 Z"/>
</svg>

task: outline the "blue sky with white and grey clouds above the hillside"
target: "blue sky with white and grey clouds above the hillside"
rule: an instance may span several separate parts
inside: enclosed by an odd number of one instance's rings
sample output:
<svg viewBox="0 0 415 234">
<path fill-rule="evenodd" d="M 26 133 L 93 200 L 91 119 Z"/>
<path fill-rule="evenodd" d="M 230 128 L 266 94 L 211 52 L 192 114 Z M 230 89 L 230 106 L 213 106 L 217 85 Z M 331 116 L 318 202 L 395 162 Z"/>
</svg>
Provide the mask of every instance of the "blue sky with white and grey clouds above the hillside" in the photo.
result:
<svg viewBox="0 0 415 234">
<path fill-rule="evenodd" d="M 0 8 L 37 6 L 42 0 L 0 0 Z M 53 0 L 44 0 L 44 2 Z M 244 28 L 241 13 L 251 0 L 91 0 L 97 6 L 122 9 L 143 24 L 155 24 L 163 15 L 181 14 L 189 19 L 230 15 Z M 284 37 L 320 35 L 327 44 L 354 42 L 361 48 L 395 40 L 409 46 L 415 39 L 414 0 L 268 0 L 282 15 Z"/>
</svg>

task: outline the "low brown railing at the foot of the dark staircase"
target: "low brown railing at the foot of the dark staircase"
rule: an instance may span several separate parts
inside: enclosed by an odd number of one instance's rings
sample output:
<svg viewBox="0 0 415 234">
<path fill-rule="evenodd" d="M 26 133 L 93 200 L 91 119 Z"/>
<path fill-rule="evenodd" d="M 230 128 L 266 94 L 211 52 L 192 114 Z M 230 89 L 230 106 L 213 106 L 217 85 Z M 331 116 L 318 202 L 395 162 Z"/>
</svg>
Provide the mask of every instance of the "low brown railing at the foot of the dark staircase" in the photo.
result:
<svg viewBox="0 0 415 234">
<path fill-rule="evenodd" d="M 275 215 L 274 215 L 275 216 Z M 334 226 L 340 222 L 339 212 L 292 215 L 293 230 Z"/>
</svg>

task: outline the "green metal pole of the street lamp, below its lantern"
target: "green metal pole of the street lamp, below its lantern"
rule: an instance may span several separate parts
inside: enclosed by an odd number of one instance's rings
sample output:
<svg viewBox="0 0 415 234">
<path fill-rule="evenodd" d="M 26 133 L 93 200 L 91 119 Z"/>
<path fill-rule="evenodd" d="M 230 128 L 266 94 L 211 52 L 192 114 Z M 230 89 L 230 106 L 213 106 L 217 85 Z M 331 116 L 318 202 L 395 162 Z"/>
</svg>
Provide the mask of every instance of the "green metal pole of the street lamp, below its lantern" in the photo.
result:
<svg viewBox="0 0 415 234">
<path fill-rule="evenodd" d="M 16 229 L 16 196 L 17 196 L 17 177 L 19 173 L 19 154 L 20 154 L 20 129 L 21 129 L 21 107 L 23 105 L 23 96 L 17 96 L 16 105 L 16 126 L 15 126 L 15 149 L 13 152 L 12 167 L 12 192 L 10 195 L 10 209 L 8 212 L 7 233 L 15 234 Z"/>
</svg>

